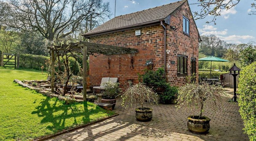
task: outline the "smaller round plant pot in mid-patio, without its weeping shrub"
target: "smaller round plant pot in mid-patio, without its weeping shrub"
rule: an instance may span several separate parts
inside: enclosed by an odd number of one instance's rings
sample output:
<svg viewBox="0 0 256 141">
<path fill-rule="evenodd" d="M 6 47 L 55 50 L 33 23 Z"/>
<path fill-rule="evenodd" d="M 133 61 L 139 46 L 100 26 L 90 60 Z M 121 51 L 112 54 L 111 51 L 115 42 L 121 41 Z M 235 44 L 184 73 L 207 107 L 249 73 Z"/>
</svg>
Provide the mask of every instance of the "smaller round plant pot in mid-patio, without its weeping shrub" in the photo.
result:
<svg viewBox="0 0 256 141">
<path fill-rule="evenodd" d="M 152 110 L 151 108 L 138 108 L 135 110 L 135 117 L 138 121 L 149 121 L 153 117 Z"/>
</svg>

